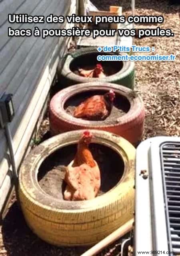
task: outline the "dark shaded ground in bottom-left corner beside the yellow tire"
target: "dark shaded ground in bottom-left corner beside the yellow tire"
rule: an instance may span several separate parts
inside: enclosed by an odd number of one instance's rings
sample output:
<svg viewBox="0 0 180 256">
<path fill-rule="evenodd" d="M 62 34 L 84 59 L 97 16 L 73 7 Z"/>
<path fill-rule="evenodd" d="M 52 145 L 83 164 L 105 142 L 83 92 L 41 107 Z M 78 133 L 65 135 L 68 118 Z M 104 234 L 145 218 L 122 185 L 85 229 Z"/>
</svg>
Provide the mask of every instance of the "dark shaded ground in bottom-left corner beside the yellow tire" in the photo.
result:
<svg viewBox="0 0 180 256">
<path fill-rule="evenodd" d="M 87 249 L 58 248 L 43 242 L 28 228 L 16 202 L 2 223 L 2 237 L 7 256 L 80 256 Z"/>
</svg>

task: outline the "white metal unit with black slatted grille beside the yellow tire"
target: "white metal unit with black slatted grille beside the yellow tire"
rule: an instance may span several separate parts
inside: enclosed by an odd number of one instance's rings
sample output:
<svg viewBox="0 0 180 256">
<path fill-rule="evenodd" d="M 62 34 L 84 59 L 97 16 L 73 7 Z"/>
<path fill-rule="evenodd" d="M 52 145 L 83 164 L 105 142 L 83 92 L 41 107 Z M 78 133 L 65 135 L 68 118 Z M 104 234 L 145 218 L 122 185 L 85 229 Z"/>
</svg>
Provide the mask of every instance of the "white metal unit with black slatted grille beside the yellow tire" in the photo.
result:
<svg viewBox="0 0 180 256">
<path fill-rule="evenodd" d="M 135 188 L 134 254 L 180 255 L 179 137 L 140 143 Z"/>
</svg>

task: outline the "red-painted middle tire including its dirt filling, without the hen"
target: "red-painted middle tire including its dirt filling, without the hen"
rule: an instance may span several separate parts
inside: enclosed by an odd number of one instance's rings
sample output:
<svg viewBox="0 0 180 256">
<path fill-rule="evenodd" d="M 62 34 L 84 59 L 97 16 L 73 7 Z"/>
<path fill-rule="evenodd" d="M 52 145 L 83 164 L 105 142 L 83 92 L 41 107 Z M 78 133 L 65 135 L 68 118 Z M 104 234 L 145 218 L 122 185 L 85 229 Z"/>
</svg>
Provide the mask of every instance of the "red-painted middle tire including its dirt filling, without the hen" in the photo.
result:
<svg viewBox="0 0 180 256">
<path fill-rule="evenodd" d="M 92 95 L 103 95 L 110 90 L 115 93 L 116 100 L 112 114 L 107 119 L 84 120 L 75 118 L 68 111 L 69 106 L 76 107 L 86 98 Z M 96 105 L 94 107 L 96 108 Z M 123 113 L 119 115 L 117 109 Z M 129 88 L 110 83 L 90 82 L 70 86 L 55 94 L 50 102 L 49 117 L 53 135 L 78 129 L 98 129 L 120 135 L 133 145 L 137 145 L 144 131 L 145 109 L 140 96 Z"/>
</svg>

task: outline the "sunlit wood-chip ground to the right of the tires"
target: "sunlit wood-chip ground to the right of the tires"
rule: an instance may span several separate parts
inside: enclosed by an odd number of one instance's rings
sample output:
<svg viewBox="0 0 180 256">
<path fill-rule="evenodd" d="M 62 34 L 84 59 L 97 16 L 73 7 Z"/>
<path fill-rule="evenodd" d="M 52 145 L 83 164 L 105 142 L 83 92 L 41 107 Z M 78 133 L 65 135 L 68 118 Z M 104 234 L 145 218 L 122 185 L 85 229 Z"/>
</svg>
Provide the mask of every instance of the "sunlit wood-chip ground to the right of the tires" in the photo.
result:
<svg viewBox="0 0 180 256">
<path fill-rule="evenodd" d="M 119 4 L 118 0 L 92 2 L 104 10 L 108 10 L 109 4 Z M 130 2 L 120 1 L 126 16 L 131 14 Z M 180 6 L 170 7 L 168 2 L 163 0 L 135 2 L 135 15 L 164 16 L 164 23 L 158 27 L 171 29 L 174 37 L 144 37 L 135 39 L 134 44 L 155 47 L 154 54 L 176 55 L 176 61 L 136 62 L 136 90 L 142 96 L 146 107 L 143 139 L 158 135 L 180 136 Z"/>
</svg>

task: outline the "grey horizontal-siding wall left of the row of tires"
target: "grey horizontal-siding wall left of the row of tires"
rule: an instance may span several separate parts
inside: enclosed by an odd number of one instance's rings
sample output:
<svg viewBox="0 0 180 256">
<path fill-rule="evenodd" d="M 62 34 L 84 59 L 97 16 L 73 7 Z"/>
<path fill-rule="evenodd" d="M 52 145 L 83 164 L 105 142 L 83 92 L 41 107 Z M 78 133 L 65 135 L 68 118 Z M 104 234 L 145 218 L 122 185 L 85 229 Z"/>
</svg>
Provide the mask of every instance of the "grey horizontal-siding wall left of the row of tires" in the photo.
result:
<svg viewBox="0 0 180 256">
<path fill-rule="evenodd" d="M 8 14 L 70 15 L 76 12 L 76 0 L 2 0 L 0 1 L 0 96 L 12 93 L 16 115 L 10 123 L 16 165 L 28 146 L 33 129 L 48 95 L 59 56 L 63 55 L 67 38 L 8 37 L 12 29 L 64 28 L 60 23 L 8 23 Z M 0 129 L 0 211 L 11 187 L 10 161 L 6 137 Z"/>
</svg>

